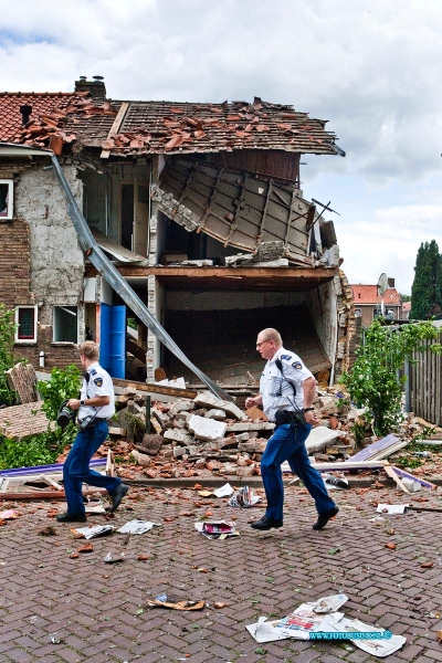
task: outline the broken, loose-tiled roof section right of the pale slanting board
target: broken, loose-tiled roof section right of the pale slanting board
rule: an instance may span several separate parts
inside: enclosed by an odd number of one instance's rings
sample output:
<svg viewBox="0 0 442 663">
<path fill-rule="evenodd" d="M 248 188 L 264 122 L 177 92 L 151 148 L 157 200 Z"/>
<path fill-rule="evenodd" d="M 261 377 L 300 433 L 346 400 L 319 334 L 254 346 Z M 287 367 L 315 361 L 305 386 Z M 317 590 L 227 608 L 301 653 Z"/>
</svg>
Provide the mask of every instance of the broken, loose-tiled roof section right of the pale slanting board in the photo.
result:
<svg viewBox="0 0 442 663">
<path fill-rule="evenodd" d="M 117 155 L 234 149 L 336 155 L 341 150 L 335 147 L 336 137 L 325 125 L 325 120 L 313 119 L 292 106 L 257 97 L 253 104 L 130 102 L 118 134 L 103 147 Z"/>
</svg>

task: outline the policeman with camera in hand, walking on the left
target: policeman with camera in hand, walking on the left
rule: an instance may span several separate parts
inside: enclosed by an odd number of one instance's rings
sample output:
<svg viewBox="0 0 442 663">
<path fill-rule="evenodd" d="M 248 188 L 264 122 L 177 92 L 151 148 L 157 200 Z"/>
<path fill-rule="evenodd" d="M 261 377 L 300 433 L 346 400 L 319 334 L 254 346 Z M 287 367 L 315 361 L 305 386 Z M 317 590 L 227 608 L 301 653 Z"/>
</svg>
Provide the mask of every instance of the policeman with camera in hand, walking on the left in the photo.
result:
<svg viewBox="0 0 442 663">
<path fill-rule="evenodd" d="M 59 523 L 84 523 L 82 484 L 106 488 L 112 496 L 110 512 L 118 508 L 129 486 L 115 476 L 104 476 L 90 470 L 90 462 L 107 438 L 107 421 L 115 413 L 112 378 L 98 364 L 98 346 L 86 340 L 80 348 L 84 372 L 80 399 L 67 401 L 71 410 L 78 410 L 80 430 L 63 466 L 67 512 L 56 517 Z M 86 425 L 87 424 L 87 425 Z"/>
</svg>

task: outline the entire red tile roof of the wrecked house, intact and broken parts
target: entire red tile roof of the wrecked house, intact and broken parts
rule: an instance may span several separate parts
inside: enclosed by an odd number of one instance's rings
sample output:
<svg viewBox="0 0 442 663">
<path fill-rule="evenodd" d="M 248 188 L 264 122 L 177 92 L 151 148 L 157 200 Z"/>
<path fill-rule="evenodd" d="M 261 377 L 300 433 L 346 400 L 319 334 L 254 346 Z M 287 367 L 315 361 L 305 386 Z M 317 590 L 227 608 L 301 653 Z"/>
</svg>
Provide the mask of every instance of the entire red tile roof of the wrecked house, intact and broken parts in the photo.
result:
<svg viewBox="0 0 442 663">
<path fill-rule="evenodd" d="M 48 147 L 55 134 L 65 143 L 81 138 L 86 147 L 102 147 L 118 156 L 234 149 L 344 155 L 335 146 L 335 135 L 325 130 L 326 120 L 257 97 L 253 104 L 127 102 L 123 122 L 114 127 L 123 102 L 106 99 L 97 106 L 86 94 L 0 94 L 0 140 Z M 24 127 L 22 104 L 32 106 Z"/>
</svg>

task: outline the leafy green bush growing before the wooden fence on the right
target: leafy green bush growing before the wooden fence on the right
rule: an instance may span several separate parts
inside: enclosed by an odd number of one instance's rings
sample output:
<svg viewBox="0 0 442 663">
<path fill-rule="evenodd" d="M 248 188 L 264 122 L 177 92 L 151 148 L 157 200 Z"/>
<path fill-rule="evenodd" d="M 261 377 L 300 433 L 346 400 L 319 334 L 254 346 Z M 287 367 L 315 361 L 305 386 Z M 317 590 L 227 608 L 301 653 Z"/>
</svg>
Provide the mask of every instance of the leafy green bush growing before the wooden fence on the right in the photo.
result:
<svg viewBox="0 0 442 663">
<path fill-rule="evenodd" d="M 368 408 L 377 434 L 386 435 L 402 419 L 401 398 L 404 377 L 399 377 L 406 359 L 413 351 L 441 352 L 441 346 L 425 346 L 427 339 L 438 336 L 431 323 L 414 323 L 399 328 L 383 327 L 380 320 L 371 323 L 366 332 L 365 345 L 357 349 L 350 371 L 343 373 L 340 382 L 357 403 Z"/>
</svg>

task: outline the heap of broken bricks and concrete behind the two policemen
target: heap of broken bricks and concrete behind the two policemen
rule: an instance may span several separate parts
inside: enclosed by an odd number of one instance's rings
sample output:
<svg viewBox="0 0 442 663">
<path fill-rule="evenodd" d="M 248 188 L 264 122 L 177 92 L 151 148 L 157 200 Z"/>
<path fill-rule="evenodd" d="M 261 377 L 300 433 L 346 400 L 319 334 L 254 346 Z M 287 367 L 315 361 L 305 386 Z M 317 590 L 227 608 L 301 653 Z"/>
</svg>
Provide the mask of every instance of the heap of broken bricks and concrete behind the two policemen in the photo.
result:
<svg viewBox="0 0 442 663">
<path fill-rule="evenodd" d="M 335 391 L 319 390 L 314 402 L 317 425 L 307 449 L 316 461 L 347 460 L 354 453 L 350 429 L 360 410 Z M 274 430 L 259 408 L 244 412 L 209 391 L 194 399 L 152 401 L 151 433 L 146 433 L 145 398 L 134 389 L 117 397 L 117 407 L 118 421 L 109 434 L 114 456 L 125 464 L 119 474 L 127 478 L 134 472 L 149 478 L 259 475 L 261 456 Z"/>
</svg>

